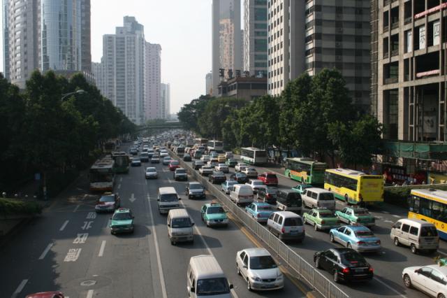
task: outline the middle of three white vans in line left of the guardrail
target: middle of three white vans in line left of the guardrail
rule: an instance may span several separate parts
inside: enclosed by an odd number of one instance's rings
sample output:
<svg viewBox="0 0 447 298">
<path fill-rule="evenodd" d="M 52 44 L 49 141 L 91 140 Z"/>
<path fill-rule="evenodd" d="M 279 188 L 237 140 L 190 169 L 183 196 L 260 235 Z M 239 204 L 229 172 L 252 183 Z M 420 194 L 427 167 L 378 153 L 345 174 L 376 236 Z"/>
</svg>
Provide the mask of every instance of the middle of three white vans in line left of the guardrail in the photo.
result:
<svg viewBox="0 0 447 298">
<path fill-rule="evenodd" d="M 171 244 L 194 241 L 194 222 L 184 209 L 171 209 L 168 213 L 168 236 Z"/>
</svg>

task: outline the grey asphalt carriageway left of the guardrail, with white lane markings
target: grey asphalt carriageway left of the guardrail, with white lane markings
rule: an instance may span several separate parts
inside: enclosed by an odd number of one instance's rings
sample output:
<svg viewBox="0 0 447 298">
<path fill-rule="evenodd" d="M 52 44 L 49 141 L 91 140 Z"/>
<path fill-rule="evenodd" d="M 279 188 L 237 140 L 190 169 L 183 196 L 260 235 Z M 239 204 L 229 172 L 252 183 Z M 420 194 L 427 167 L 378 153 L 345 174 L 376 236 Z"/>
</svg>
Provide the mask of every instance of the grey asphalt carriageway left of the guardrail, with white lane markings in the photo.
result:
<svg viewBox="0 0 447 298">
<path fill-rule="evenodd" d="M 255 244 L 235 222 L 212 229 L 200 220 L 200 207 L 212 198 L 184 196 L 185 182 L 175 182 L 167 166 L 156 165 L 159 179 L 145 180 L 144 169 L 118 175 L 115 192 L 135 215 L 135 232 L 111 235 L 111 214 L 96 214 L 96 195 L 81 176 L 38 218 L 1 248 L 0 297 L 61 290 L 67 297 L 186 297 L 186 267 L 194 255 L 214 255 L 230 283 L 233 297 L 304 297 L 286 278 L 284 290 L 249 292 L 235 270 L 235 254 Z M 194 222 L 193 244 L 172 246 L 166 215 L 156 204 L 159 187 L 173 186 Z M 299 285 L 298 285 L 299 286 Z"/>
</svg>

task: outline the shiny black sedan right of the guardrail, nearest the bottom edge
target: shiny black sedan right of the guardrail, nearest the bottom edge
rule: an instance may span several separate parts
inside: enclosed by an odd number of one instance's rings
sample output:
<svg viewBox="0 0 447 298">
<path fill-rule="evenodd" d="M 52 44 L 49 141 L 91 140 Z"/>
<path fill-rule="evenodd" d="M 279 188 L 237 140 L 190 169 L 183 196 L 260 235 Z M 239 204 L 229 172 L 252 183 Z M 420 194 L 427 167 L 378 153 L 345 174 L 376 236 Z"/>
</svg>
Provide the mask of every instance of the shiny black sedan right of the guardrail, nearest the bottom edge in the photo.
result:
<svg viewBox="0 0 447 298">
<path fill-rule="evenodd" d="M 334 276 L 334 281 L 370 281 L 374 277 L 374 270 L 352 248 L 330 248 L 319 251 L 314 255 L 316 268 L 325 269 Z"/>
</svg>

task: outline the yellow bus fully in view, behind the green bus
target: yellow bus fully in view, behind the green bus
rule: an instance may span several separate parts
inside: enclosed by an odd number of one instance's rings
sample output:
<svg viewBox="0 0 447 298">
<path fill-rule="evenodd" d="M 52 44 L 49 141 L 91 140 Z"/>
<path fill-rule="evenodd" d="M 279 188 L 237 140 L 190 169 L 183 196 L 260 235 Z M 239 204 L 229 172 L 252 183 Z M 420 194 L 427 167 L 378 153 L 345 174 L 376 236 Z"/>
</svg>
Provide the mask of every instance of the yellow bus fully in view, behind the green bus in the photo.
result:
<svg viewBox="0 0 447 298">
<path fill-rule="evenodd" d="M 383 176 L 350 169 L 326 169 L 324 188 L 348 204 L 383 201 Z"/>
</svg>

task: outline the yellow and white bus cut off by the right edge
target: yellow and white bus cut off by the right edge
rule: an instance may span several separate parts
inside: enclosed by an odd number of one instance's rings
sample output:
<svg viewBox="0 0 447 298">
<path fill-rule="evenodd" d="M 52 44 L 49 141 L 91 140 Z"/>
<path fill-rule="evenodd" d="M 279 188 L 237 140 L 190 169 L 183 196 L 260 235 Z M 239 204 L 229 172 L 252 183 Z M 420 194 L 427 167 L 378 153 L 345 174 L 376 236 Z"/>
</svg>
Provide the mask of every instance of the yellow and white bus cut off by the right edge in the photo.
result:
<svg viewBox="0 0 447 298">
<path fill-rule="evenodd" d="M 411 190 L 408 218 L 432 222 L 439 238 L 447 240 L 447 192 L 445 190 Z"/>
</svg>

